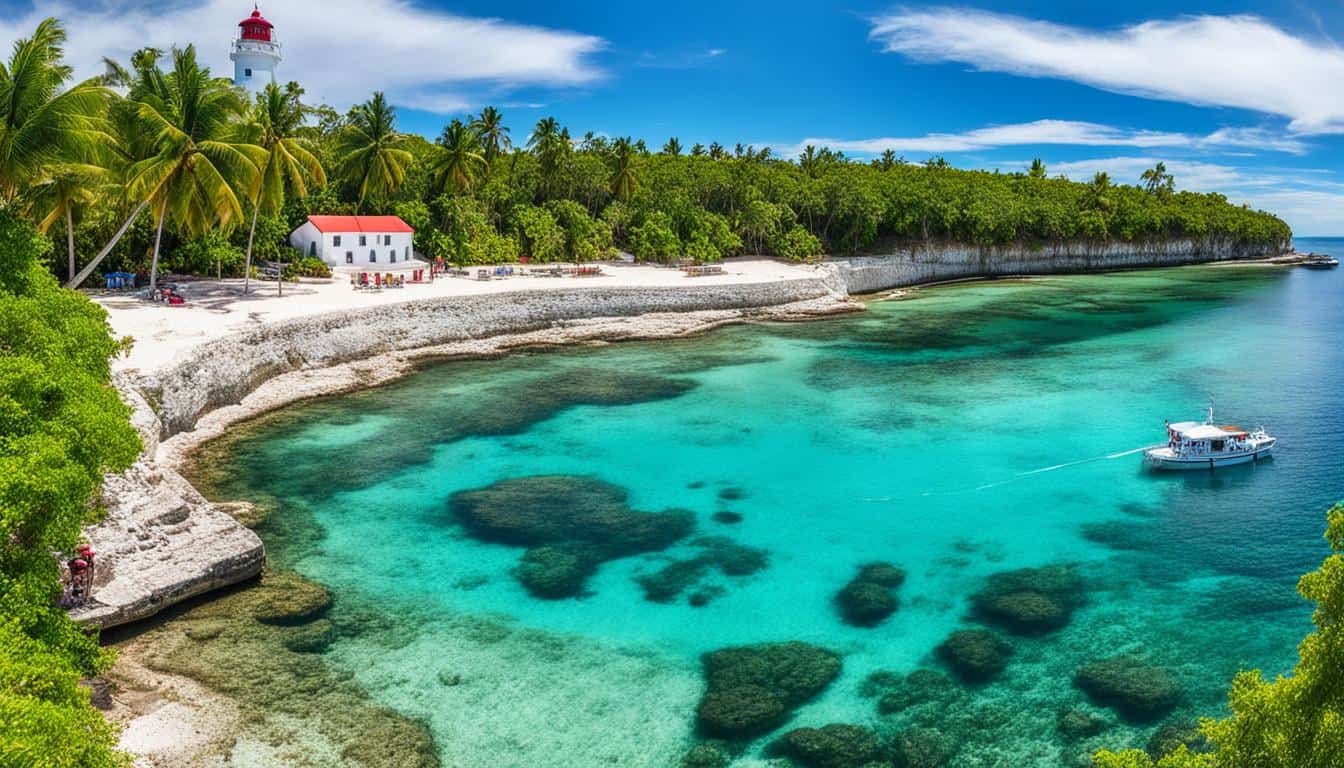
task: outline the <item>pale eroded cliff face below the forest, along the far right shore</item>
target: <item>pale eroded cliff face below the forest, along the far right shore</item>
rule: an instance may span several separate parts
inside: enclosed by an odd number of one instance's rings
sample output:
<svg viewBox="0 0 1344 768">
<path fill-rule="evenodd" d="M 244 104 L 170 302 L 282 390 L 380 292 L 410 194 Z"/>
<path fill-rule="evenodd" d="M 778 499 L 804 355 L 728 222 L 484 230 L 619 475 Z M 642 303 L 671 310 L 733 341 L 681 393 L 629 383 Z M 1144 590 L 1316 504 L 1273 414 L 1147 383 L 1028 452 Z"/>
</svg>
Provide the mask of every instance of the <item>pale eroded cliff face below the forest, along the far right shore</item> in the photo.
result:
<svg viewBox="0 0 1344 768">
<path fill-rule="evenodd" d="M 1032 246 L 930 245 L 890 256 L 840 258 L 839 282 L 849 293 L 874 293 L 922 282 L 966 277 L 1011 277 L 1179 266 L 1208 261 L 1267 258 L 1290 250 L 1290 242 L 1249 246 L 1218 239 L 1152 242 L 1068 241 Z"/>
</svg>

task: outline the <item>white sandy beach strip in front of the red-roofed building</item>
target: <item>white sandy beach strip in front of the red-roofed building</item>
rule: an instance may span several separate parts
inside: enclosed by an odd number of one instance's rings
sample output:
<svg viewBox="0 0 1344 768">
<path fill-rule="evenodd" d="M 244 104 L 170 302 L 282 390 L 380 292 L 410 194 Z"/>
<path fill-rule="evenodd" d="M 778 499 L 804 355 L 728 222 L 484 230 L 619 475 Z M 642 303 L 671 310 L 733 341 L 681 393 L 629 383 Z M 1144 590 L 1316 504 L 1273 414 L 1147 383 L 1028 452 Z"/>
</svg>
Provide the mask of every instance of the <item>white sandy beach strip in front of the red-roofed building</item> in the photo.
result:
<svg viewBox="0 0 1344 768">
<path fill-rule="evenodd" d="M 472 274 L 476 269 L 472 269 Z M 177 282 L 187 304 L 176 307 L 146 301 L 133 293 L 102 293 L 93 299 L 108 309 L 114 335 L 134 339 L 130 354 L 117 358 L 114 367 L 152 371 L 196 344 L 249 325 L 343 309 L 507 291 L 723 285 L 771 282 L 814 274 L 814 266 L 751 258 L 732 260 L 724 265 L 724 274 L 704 277 L 687 277 L 681 270 L 665 266 L 603 264 L 602 274 L 597 277 L 439 277 L 433 282 L 384 291 L 353 291 L 345 277 L 304 280 L 286 282 L 284 296 L 277 295 L 276 282 L 270 281 L 254 280 L 251 291 L 243 296 L 242 280 L 192 280 Z"/>
</svg>

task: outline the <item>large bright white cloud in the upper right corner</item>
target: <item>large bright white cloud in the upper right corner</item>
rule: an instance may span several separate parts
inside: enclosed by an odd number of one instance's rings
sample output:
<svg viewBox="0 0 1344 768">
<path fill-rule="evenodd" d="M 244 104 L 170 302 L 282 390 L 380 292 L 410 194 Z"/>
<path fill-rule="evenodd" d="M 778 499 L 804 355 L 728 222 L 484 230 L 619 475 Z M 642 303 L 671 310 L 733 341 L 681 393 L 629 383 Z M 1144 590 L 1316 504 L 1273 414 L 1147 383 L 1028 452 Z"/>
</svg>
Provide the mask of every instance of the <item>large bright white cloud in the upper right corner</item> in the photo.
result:
<svg viewBox="0 0 1344 768">
<path fill-rule="evenodd" d="M 1344 132 L 1344 50 L 1257 16 L 1192 16 L 1094 31 L 966 8 L 872 19 L 884 50 L 1118 93 L 1253 109 L 1301 133 Z"/>
</svg>

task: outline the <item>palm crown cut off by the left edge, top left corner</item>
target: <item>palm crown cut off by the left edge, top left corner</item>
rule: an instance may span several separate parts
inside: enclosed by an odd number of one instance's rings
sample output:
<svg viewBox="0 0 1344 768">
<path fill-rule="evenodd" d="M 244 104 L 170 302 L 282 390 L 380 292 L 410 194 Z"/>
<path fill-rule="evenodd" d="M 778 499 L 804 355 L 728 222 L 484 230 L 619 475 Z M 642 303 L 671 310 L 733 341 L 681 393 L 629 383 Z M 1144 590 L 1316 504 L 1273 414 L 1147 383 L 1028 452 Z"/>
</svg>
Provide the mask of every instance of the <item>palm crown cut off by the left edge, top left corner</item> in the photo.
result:
<svg viewBox="0 0 1344 768">
<path fill-rule="evenodd" d="M 0 65 L 0 203 L 48 178 L 52 165 L 83 161 L 98 151 L 110 93 L 97 79 L 63 89 L 66 31 L 55 19 L 13 44 Z"/>
</svg>

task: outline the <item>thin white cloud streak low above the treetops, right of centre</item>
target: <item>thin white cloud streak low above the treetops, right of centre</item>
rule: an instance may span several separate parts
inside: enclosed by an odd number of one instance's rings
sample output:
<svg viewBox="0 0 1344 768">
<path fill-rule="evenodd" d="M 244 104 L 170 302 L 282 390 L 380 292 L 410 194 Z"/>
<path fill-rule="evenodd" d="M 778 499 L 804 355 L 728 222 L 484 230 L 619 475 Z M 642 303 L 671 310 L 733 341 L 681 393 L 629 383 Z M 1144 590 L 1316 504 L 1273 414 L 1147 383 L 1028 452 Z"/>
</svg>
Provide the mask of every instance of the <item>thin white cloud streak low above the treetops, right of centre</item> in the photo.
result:
<svg viewBox="0 0 1344 768">
<path fill-rule="evenodd" d="M 797 144 L 775 145 L 793 157 L 808 144 L 829 147 L 848 155 L 880 155 L 892 152 L 973 152 L 996 147 L 1071 144 L 1079 147 L 1136 147 L 1136 148 L 1189 148 L 1215 149 L 1220 147 L 1251 147 L 1279 152 L 1302 153 L 1304 141 L 1259 128 L 1222 128 L 1207 136 L 1165 130 L 1133 130 L 1077 120 L 1036 120 L 1009 125 L 991 125 L 961 133 L 927 133 L 905 139 L 805 139 Z"/>
</svg>

